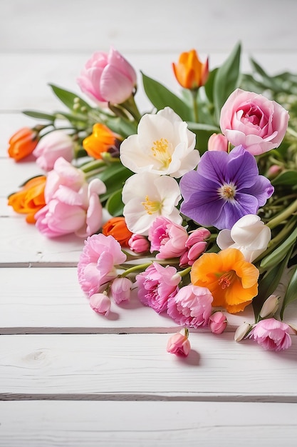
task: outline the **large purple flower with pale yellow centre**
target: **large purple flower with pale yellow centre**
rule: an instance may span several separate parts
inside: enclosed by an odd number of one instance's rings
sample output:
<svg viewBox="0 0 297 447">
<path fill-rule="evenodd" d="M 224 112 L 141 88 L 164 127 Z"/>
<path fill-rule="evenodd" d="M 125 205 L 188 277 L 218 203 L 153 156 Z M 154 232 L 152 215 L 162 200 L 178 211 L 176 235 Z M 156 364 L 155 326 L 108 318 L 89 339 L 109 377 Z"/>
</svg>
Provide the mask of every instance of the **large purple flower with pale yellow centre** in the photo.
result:
<svg viewBox="0 0 297 447">
<path fill-rule="evenodd" d="M 231 229 L 246 214 L 256 214 L 273 194 L 270 181 L 259 175 L 256 159 L 243 146 L 229 154 L 205 152 L 197 171 L 184 174 L 179 186 L 182 214 L 219 230 Z"/>
</svg>

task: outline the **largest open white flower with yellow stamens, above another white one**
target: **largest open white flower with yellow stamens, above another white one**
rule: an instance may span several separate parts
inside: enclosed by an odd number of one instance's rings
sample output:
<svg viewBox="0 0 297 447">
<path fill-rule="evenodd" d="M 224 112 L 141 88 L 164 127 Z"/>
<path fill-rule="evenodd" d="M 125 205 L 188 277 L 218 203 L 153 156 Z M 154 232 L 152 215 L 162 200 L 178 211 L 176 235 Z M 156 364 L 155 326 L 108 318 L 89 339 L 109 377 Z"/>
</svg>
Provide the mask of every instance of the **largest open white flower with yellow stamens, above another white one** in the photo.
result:
<svg viewBox="0 0 297 447">
<path fill-rule="evenodd" d="M 196 136 L 170 107 L 142 116 L 137 132 L 120 145 L 120 160 L 130 171 L 179 179 L 197 166 Z"/>
</svg>

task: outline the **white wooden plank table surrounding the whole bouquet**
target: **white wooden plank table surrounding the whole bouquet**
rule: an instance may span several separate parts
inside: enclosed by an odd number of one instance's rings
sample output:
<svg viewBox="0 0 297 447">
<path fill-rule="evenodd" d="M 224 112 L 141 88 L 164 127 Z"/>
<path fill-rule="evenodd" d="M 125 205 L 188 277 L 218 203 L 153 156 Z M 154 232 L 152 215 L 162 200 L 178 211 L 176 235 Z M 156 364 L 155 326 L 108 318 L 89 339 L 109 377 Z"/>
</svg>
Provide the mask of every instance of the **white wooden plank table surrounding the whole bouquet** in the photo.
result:
<svg viewBox="0 0 297 447">
<path fill-rule="evenodd" d="M 221 336 L 191 333 L 180 360 L 166 352 L 170 319 L 137 301 L 108 319 L 91 311 L 76 276 L 82 240 L 48 240 L 6 205 L 41 174 L 6 154 L 9 136 L 33 124 L 21 110 L 58 109 L 48 82 L 79 93 L 76 76 L 95 50 L 113 44 L 173 90 L 180 52 L 210 54 L 214 67 L 238 39 L 243 69 L 252 54 L 271 74 L 297 72 L 293 0 L 109 3 L 1 2 L 0 446 L 296 446 L 296 336 L 281 353 L 235 343 L 245 313 Z"/>
</svg>

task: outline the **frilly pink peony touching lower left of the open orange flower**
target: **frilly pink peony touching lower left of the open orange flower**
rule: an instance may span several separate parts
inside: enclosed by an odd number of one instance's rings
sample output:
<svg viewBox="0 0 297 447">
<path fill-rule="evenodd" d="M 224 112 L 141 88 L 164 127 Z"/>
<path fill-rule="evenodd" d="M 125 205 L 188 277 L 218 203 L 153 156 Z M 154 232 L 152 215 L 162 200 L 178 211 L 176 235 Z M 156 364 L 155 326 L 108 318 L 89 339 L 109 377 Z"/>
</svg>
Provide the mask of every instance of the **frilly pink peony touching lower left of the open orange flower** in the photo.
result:
<svg viewBox="0 0 297 447">
<path fill-rule="evenodd" d="M 181 326 L 206 326 L 212 313 L 212 300 L 208 288 L 189 284 L 169 298 L 167 313 Z"/>
</svg>

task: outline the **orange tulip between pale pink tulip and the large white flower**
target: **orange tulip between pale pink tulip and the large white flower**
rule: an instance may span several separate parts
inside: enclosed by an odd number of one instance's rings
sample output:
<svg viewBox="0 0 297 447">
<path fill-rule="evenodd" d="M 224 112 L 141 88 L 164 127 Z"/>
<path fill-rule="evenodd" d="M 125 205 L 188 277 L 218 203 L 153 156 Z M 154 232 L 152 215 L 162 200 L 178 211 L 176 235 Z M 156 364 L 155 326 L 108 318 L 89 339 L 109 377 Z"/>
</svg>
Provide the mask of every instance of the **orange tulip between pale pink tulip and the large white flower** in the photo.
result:
<svg viewBox="0 0 297 447">
<path fill-rule="evenodd" d="M 104 124 L 94 124 L 93 133 L 83 140 L 83 149 L 90 157 L 101 159 L 103 152 L 107 152 L 115 145 L 115 134 Z"/>
</svg>

